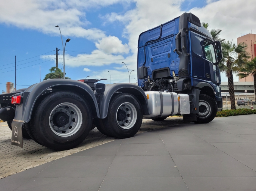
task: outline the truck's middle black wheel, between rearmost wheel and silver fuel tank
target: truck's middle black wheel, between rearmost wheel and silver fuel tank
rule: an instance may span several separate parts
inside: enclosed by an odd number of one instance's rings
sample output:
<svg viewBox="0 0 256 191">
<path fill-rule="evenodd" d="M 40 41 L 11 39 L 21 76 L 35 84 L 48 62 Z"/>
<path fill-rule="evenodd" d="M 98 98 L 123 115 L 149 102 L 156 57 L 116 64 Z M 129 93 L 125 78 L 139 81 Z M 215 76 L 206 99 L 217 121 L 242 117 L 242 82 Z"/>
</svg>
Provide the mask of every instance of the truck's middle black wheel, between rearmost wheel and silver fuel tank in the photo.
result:
<svg viewBox="0 0 256 191">
<path fill-rule="evenodd" d="M 100 128 L 104 127 L 107 135 L 119 139 L 132 137 L 142 124 L 142 113 L 141 104 L 135 96 L 128 93 L 117 94 L 111 99 L 108 115 L 101 120 Z"/>
</svg>

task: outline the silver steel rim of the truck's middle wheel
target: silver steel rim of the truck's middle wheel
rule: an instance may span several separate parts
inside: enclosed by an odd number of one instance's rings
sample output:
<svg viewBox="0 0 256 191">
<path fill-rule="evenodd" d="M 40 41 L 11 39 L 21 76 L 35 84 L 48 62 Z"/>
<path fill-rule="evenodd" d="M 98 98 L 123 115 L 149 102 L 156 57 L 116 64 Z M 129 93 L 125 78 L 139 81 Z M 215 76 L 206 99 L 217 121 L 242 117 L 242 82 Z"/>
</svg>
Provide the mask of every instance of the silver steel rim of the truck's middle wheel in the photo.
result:
<svg viewBox="0 0 256 191">
<path fill-rule="evenodd" d="M 125 118 L 124 115 L 126 115 Z M 122 103 L 117 109 L 116 120 L 120 128 L 132 128 L 137 120 L 137 110 L 135 106 L 129 102 Z"/>
</svg>

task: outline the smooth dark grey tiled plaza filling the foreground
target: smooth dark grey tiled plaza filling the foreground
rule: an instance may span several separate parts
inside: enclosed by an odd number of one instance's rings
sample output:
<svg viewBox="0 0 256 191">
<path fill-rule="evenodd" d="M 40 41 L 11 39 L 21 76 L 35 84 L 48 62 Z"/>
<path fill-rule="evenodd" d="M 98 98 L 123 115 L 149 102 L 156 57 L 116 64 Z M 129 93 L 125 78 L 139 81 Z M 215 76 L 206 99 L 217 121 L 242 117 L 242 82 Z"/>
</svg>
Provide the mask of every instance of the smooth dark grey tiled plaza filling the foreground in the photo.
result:
<svg viewBox="0 0 256 191">
<path fill-rule="evenodd" d="M 0 190 L 255 191 L 255 116 L 175 126 L 168 125 L 170 118 L 165 128 L 109 140 L 2 178 Z"/>
</svg>

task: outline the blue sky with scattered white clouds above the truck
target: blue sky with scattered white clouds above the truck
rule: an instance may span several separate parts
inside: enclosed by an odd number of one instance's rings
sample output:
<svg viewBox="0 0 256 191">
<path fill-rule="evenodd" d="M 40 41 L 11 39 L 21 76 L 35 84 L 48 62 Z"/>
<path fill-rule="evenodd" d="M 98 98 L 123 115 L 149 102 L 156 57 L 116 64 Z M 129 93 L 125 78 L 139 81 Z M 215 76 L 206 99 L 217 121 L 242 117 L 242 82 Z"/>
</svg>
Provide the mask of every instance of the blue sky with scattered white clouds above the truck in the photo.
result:
<svg viewBox="0 0 256 191">
<path fill-rule="evenodd" d="M 184 12 L 222 29 L 221 37 L 237 42 L 256 33 L 254 0 L 0 0 L 0 91 L 6 82 L 17 89 L 40 82 L 56 65 L 71 79 L 106 78 L 109 84 L 137 79 L 139 34 Z M 41 72 L 40 72 L 41 67 Z M 111 76 L 111 78 L 110 78 Z M 227 81 L 221 74 L 222 81 Z M 135 78 L 135 79 L 134 79 Z M 234 77 L 238 81 L 238 77 Z"/>
</svg>

